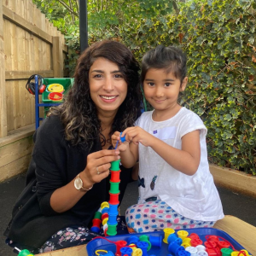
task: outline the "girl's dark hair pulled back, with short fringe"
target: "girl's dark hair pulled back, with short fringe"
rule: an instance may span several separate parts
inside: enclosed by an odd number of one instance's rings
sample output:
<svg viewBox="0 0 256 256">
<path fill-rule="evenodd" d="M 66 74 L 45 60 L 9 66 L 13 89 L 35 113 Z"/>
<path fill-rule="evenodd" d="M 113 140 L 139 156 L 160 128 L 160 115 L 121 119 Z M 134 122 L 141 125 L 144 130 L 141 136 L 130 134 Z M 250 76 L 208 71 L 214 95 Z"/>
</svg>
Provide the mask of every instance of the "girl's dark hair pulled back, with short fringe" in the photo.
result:
<svg viewBox="0 0 256 256">
<path fill-rule="evenodd" d="M 148 69 L 166 69 L 166 73 L 172 72 L 177 79 L 183 81 L 187 74 L 187 57 L 182 49 L 174 46 L 159 45 L 150 49 L 142 61 L 141 81 L 143 82 Z"/>
</svg>

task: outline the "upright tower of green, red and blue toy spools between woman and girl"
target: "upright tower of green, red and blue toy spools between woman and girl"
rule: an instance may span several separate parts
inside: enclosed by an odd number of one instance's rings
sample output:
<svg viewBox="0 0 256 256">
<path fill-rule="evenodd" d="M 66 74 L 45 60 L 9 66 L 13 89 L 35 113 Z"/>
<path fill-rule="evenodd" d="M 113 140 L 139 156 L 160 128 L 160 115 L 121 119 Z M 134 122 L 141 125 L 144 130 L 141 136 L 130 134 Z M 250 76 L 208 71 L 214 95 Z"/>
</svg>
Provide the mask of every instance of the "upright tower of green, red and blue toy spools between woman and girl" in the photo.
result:
<svg viewBox="0 0 256 256">
<path fill-rule="evenodd" d="M 111 162 L 110 172 L 110 190 L 109 190 L 109 210 L 108 210 L 108 236 L 115 236 L 117 234 L 117 216 L 119 214 L 119 183 L 120 183 L 120 160 Z"/>
</svg>

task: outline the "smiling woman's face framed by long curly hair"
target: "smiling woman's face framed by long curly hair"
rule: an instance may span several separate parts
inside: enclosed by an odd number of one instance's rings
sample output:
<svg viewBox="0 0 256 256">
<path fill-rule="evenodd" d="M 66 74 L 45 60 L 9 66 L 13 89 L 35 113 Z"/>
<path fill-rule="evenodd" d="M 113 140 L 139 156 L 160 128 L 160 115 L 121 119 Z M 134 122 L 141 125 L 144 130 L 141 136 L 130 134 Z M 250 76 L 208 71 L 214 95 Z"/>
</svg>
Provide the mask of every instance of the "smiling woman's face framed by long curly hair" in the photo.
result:
<svg viewBox="0 0 256 256">
<path fill-rule="evenodd" d="M 98 113 L 116 113 L 127 95 L 127 84 L 118 65 L 102 57 L 90 67 L 89 86 Z"/>
</svg>

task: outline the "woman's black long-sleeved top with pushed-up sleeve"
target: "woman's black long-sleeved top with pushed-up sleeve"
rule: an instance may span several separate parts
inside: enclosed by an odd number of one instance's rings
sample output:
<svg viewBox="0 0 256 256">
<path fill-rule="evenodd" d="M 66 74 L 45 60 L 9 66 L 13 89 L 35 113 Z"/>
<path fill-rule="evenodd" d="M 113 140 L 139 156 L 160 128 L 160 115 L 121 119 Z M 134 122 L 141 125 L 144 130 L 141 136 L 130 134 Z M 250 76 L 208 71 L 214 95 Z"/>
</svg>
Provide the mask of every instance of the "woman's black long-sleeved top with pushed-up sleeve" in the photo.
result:
<svg viewBox="0 0 256 256">
<path fill-rule="evenodd" d="M 32 161 L 26 176 L 26 188 L 15 203 L 4 235 L 29 247 L 41 247 L 55 232 L 71 225 L 90 227 L 95 212 L 103 201 L 109 201 L 108 176 L 94 184 L 78 203 L 67 212 L 50 207 L 55 189 L 71 182 L 86 166 L 87 155 L 102 149 L 99 137 L 90 149 L 71 146 L 64 138 L 59 116 L 51 115 L 34 134 Z M 120 166 L 119 202 L 131 181 L 131 169 Z M 82 192 L 81 192 L 82 193 Z"/>
</svg>

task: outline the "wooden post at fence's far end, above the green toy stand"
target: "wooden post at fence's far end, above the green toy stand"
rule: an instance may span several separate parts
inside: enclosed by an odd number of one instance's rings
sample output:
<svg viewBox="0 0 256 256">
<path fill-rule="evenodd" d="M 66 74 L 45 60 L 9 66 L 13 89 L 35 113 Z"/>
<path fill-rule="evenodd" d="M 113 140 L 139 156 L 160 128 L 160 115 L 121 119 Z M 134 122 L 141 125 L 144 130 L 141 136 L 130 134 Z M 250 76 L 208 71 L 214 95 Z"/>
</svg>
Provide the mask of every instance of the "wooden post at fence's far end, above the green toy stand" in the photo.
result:
<svg viewBox="0 0 256 256">
<path fill-rule="evenodd" d="M 52 58 L 53 58 L 53 71 L 55 78 L 63 77 L 62 70 L 62 48 L 61 48 L 61 38 L 52 38 Z"/>
</svg>

